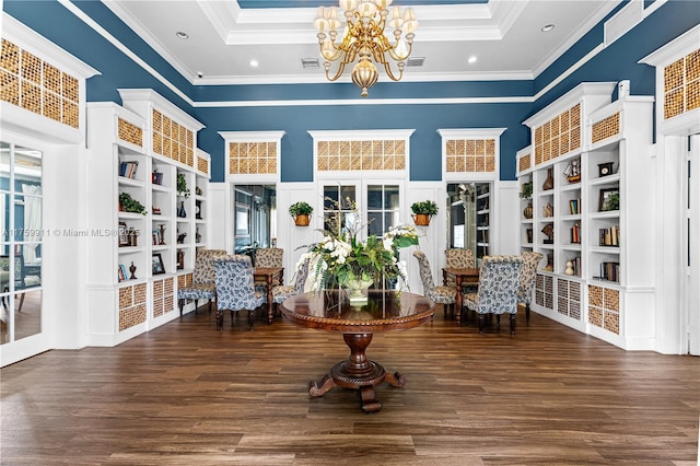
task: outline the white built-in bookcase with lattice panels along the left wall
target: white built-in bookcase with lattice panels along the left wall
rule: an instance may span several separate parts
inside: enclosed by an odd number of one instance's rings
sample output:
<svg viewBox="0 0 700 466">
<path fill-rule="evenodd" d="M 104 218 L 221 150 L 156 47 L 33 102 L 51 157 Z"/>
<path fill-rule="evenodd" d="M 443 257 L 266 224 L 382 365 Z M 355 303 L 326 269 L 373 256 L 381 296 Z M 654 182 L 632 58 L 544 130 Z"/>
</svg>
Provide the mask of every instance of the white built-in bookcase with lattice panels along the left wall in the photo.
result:
<svg viewBox="0 0 700 466">
<path fill-rule="evenodd" d="M 201 125 L 152 91 L 124 91 L 122 100 L 88 104 L 88 224 L 112 232 L 88 240 L 88 336 L 97 346 L 179 316 L 177 288 L 191 282 L 195 231 L 205 229 L 194 194 L 208 183 L 195 165 Z M 189 196 L 178 194 L 178 174 Z"/>
</svg>

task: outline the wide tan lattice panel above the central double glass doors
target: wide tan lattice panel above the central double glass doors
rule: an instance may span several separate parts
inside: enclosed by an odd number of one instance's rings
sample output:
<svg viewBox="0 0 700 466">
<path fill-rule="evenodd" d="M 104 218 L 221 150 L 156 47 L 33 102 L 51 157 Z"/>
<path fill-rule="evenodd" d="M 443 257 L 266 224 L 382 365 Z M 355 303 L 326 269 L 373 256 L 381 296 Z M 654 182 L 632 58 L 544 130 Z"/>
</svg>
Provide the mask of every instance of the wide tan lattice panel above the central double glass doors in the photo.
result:
<svg viewBox="0 0 700 466">
<path fill-rule="evenodd" d="M 319 172 L 406 168 L 404 140 L 318 141 L 316 152 Z"/>
</svg>

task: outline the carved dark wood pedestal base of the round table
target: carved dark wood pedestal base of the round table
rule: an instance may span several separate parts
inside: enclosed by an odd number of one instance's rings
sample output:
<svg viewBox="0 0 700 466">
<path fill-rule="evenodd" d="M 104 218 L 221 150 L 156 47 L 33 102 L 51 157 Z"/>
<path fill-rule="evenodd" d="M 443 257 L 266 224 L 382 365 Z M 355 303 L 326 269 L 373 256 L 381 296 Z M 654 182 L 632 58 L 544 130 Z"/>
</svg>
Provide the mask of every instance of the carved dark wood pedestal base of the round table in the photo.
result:
<svg viewBox="0 0 700 466">
<path fill-rule="evenodd" d="M 360 389 L 362 410 L 377 412 L 382 404 L 375 398 L 374 386 L 387 382 L 395 387 L 402 387 L 406 380 L 398 372 L 387 374 L 381 364 L 368 360 L 365 349 L 372 342 L 372 334 L 343 334 L 343 338 L 350 348 L 350 357 L 334 365 L 320 384 L 310 382 L 308 394 L 313 397 L 323 396 L 337 386 Z"/>
</svg>

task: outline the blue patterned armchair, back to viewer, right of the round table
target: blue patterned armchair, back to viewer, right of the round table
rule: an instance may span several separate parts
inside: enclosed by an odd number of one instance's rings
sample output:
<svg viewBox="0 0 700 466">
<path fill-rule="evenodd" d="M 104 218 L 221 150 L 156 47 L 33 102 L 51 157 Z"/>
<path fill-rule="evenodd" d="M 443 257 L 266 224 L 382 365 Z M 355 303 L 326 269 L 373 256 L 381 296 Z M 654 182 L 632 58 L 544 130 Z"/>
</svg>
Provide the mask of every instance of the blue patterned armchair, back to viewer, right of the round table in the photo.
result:
<svg viewBox="0 0 700 466">
<path fill-rule="evenodd" d="M 521 256 L 485 256 L 479 269 L 479 291 L 464 296 L 463 304 L 479 316 L 479 334 L 483 334 L 486 314 L 495 314 L 501 326 L 501 314 L 510 314 L 511 335 L 515 335 L 517 290 L 520 287 Z"/>
</svg>

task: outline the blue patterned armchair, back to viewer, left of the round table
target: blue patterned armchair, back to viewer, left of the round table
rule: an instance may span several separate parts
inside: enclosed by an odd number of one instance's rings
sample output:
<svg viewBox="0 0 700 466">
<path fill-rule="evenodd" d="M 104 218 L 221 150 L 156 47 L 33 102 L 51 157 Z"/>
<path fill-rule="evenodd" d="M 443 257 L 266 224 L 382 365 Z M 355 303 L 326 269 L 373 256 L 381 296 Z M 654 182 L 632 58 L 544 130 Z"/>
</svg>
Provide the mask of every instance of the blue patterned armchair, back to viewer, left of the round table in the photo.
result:
<svg viewBox="0 0 700 466">
<path fill-rule="evenodd" d="M 255 291 L 253 265 L 250 257 L 233 255 L 214 259 L 217 283 L 217 327 L 223 328 L 223 311 L 233 313 L 247 310 L 250 330 L 253 330 L 253 313 L 267 302 L 267 294 Z"/>
</svg>

